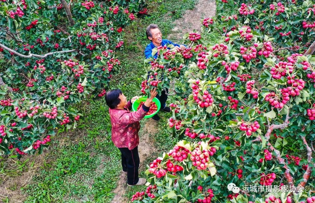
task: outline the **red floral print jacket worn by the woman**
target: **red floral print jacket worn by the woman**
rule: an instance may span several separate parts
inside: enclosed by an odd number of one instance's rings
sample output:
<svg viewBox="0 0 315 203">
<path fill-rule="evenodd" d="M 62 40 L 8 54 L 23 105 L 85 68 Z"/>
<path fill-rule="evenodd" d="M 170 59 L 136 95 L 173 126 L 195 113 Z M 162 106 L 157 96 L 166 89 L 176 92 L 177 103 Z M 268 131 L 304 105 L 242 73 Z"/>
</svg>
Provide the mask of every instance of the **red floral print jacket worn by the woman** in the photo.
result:
<svg viewBox="0 0 315 203">
<path fill-rule="evenodd" d="M 131 111 L 131 101 L 129 100 L 124 109 L 109 109 L 112 123 L 112 141 L 118 148 L 128 147 L 129 150 L 139 145 L 138 132 L 140 130 L 139 121 L 149 111 L 149 107 L 142 105 L 136 112 Z"/>
</svg>

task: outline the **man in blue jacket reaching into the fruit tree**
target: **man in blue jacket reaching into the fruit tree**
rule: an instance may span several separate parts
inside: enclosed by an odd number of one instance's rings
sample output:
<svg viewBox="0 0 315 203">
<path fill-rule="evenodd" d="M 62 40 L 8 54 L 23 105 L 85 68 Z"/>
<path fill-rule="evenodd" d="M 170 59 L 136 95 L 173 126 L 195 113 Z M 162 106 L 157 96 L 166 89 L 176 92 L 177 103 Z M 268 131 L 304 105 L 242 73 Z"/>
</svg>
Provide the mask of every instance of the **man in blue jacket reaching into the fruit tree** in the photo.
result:
<svg viewBox="0 0 315 203">
<path fill-rule="evenodd" d="M 150 44 L 146 46 L 146 49 L 144 51 L 146 58 L 152 57 L 152 49 L 159 46 L 167 46 L 169 44 L 172 44 L 175 46 L 175 49 L 177 49 L 177 51 L 181 51 L 186 48 L 184 45 L 178 45 L 169 40 L 162 40 L 162 33 L 156 24 L 150 24 L 146 28 L 146 37 L 151 41 Z M 153 58 L 157 58 L 157 53 L 155 53 Z M 161 111 L 171 112 L 171 109 L 165 105 L 167 100 L 167 93 L 168 89 L 166 89 L 166 91 L 162 91 L 161 95 L 157 95 L 156 98 L 161 102 Z M 160 117 L 155 114 L 152 119 L 155 121 L 159 121 Z"/>
</svg>

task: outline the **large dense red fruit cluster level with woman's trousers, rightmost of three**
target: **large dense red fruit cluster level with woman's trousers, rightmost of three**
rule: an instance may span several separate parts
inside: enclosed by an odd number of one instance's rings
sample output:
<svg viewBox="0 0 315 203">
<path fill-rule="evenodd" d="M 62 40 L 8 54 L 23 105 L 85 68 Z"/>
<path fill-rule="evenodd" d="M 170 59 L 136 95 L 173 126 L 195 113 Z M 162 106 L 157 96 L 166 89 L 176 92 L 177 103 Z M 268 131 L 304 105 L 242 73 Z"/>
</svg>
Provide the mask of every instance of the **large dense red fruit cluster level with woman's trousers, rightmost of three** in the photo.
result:
<svg viewBox="0 0 315 203">
<path fill-rule="evenodd" d="M 211 150 L 200 150 L 200 147 L 196 147 L 192 151 L 192 156 L 190 156 L 190 160 L 192 160 L 192 165 L 196 166 L 198 170 L 206 170 L 210 161 L 209 156 L 213 156 L 216 149 L 211 147 Z"/>
</svg>

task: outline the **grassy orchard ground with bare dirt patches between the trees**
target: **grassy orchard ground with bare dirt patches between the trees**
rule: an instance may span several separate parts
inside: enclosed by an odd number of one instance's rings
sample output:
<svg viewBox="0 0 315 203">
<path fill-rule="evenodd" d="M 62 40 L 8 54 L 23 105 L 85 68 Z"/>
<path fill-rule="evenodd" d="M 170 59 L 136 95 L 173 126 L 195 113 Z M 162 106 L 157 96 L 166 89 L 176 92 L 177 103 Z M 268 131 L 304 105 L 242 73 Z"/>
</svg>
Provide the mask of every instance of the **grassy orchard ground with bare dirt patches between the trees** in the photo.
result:
<svg viewBox="0 0 315 203">
<path fill-rule="evenodd" d="M 182 35 L 200 29 L 200 19 L 215 15 L 215 2 L 204 0 L 161 1 L 149 3 L 151 17 L 138 19 L 126 28 L 125 48 L 118 58 L 123 67 L 115 75 L 111 88 L 120 88 L 131 98 L 140 95 L 143 74 L 143 50 L 148 43 L 145 28 L 160 26 L 164 38 L 180 42 Z M 187 10 L 193 9 L 193 10 Z M 186 11 L 187 10 L 187 11 Z M 186 12 L 185 12 L 186 11 Z M 181 18 L 182 17 L 182 18 Z M 177 19 L 177 20 L 176 20 Z M 220 25 L 217 25 L 220 30 Z M 214 44 L 218 31 L 204 36 Z M 2 61 L 1 61 L 2 60 Z M 0 59 L 0 63 L 6 63 Z M 170 97 L 168 103 L 174 98 Z M 110 138 L 111 124 L 104 99 L 89 99 L 77 105 L 85 115 L 77 129 L 60 132 L 42 155 L 1 161 L 0 200 L 3 202 L 127 202 L 135 191 L 145 186 L 127 187 L 121 174 L 120 152 Z M 165 124 L 169 115 L 160 113 L 161 121 L 141 121 L 140 176 L 146 177 L 146 165 L 169 151 L 178 141 L 170 137 Z"/>
</svg>

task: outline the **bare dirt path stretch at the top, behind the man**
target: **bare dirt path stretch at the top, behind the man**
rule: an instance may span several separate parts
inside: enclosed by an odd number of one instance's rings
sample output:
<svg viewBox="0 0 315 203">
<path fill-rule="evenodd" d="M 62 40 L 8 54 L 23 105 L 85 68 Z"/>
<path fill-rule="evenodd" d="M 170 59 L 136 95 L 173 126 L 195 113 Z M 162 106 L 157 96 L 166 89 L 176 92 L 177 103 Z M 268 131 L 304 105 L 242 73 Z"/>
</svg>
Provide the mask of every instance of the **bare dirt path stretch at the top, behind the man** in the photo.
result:
<svg viewBox="0 0 315 203">
<path fill-rule="evenodd" d="M 180 41 L 184 34 L 199 31 L 201 29 L 201 19 L 215 16 L 215 0 L 199 0 L 196 7 L 187 10 L 182 18 L 175 20 L 175 27 L 168 39 Z"/>
</svg>

